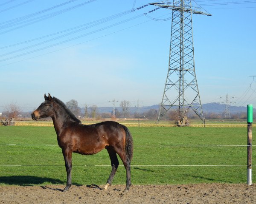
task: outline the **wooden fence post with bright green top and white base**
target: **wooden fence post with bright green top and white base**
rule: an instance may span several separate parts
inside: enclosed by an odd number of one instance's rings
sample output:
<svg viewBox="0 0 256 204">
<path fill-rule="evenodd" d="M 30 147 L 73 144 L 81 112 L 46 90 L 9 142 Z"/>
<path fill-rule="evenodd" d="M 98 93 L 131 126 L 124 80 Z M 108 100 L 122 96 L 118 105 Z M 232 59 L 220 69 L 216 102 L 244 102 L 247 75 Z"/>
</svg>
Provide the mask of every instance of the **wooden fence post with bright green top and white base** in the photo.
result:
<svg viewBox="0 0 256 204">
<path fill-rule="evenodd" d="M 253 105 L 247 105 L 247 184 L 252 185 Z"/>
</svg>

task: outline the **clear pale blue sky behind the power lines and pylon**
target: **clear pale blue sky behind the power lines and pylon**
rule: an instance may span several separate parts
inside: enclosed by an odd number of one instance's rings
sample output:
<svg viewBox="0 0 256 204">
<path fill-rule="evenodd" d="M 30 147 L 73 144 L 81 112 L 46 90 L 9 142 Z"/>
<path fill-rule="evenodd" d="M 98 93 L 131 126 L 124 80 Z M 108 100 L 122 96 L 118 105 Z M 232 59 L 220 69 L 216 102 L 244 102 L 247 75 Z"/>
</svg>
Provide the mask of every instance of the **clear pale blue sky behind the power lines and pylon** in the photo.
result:
<svg viewBox="0 0 256 204">
<path fill-rule="evenodd" d="M 27 1 L 0 3 L 0 111 L 11 102 L 20 107 L 38 107 L 44 93 L 63 102 L 76 99 L 79 106 L 112 106 L 109 101 L 113 99 L 129 100 L 132 105 L 137 105 L 139 99 L 144 106 L 161 102 L 168 69 L 171 20 L 156 21 L 143 15 L 156 7 L 147 6 L 105 23 L 94 23 L 66 37 L 60 36 L 71 30 L 55 34 L 123 14 L 134 3 L 134 8 L 138 8 L 153 1 L 74 0 L 37 15 L 36 12 L 67 0 L 24 2 Z M 85 2 L 88 3 L 77 6 Z M 256 77 L 254 82 L 249 77 L 256 75 L 256 1 L 196 2 L 212 14 L 192 17 L 201 102 L 225 101 L 218 97 L 229 94 L 234 97 L 230 99 L 236 102 L 234 105 L 256 107 L 256 85 L 250 87 L 250 83 L 256 83 Z M 77 8 L 71 10 L 73 6 Z M 53 17 L 39 18 L 67 8 L 68 11 Z M 171 14 L 172 11 L 160 8 L 148 16 L 169 19 Z M 45 37 L 50 34 L 55 35 Z M 55 40 L 50 40 L 54 37 Z M 36 38 L 41 39 L 33 40 Z"/>
</svg>

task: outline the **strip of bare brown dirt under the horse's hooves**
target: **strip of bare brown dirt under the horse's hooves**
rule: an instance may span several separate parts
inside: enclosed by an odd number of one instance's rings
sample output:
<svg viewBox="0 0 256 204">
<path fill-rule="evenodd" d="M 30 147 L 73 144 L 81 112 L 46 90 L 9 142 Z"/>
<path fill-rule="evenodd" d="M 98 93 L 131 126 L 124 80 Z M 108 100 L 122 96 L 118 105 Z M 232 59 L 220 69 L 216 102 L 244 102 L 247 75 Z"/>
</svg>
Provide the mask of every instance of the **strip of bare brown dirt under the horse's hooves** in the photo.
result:
<svg viewBox="0 0 256 204">
<path fill-rule="evenodd" d="M 125 186 L 72 186 L 63 193 L 64 185 L 0 186 L 1 204 L 244 204 L 256 203 L 256 187 L 246 184 L 136 185 L 128 193 Z"/>
</svg>

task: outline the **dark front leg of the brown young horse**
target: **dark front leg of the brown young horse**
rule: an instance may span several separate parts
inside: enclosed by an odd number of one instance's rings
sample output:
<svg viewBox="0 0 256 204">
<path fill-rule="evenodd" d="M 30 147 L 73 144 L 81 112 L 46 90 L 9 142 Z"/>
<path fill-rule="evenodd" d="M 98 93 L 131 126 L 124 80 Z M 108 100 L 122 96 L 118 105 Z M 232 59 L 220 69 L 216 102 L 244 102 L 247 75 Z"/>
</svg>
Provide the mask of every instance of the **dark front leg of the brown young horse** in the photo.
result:
<svg viewBox="0 0 256 204">
<path fill-rule="evenodd" d="M 67 171 L 67 185 L 64 188 L 63 192 L 68 191 L 71 186 L 71 170 L 72 170 L 72 151 L 69 149 L 62 149 L 62 153 L 65 160 L 65 167 Z"/>
</svg>

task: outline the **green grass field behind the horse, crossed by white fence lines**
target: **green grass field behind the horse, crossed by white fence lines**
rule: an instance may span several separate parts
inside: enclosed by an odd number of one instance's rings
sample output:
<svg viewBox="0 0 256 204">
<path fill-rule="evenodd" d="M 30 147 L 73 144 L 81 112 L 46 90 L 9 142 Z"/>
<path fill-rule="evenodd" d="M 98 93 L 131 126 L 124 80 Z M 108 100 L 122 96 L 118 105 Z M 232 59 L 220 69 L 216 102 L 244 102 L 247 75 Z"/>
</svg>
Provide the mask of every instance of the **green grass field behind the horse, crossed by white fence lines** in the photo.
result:
<svg viewBox="0 0 256 204">
<path fill-rule="evenodd" d="M 135 145 L 131 168 L 133 184 L 246 183 L 246 166 L 150 167 L 136 165 L 247 164 L 247 147 L 136 146 L 247 145 L 247 128 L 129 127 L 129 129 Z M 0 144 L 0 165 L 27 165 L 0 166 L 1 185 L 65 184 L 66 171 L 61 149 L 58 146 L 32 145 L 56 145 L 57 139 L 53 127 L 0 126 Z M 255 159 L 255 153 L 253 153 L 253 161 Z M 95 165 L 109 164 L 110 159 L 106 150 L 92 156 L 73 153 L 73 184 L 105 184 L 111 167 Z M 121 161 L 113 184 L 125 184 L 125 168 Z"/>
</svg>

